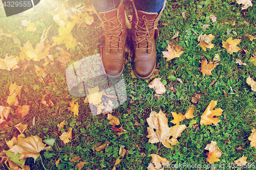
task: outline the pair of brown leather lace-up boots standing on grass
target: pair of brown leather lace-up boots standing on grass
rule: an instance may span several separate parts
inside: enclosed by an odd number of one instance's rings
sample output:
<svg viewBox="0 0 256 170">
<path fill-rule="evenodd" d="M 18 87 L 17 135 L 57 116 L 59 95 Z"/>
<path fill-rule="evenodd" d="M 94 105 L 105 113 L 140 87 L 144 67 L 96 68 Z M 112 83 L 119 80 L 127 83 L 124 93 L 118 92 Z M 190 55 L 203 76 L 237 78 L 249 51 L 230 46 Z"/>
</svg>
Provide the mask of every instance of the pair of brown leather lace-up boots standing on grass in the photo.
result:
<svg viewBox="0 0 256 170">
<path fill-rule="evenodd" d="M 164 3 L 165 5 L 165 3 Z M 146 12 L 137 10 L 133 1 L 132 38 L 134 45 L 134 74 L 137 78 L 150 78 L 156 68 L 156 45 L 158 38 L 157 23 L 164 9 L 160 12 Z M 124 44 L 127 30 L 125 25 L 124 5 L 118 8 L 97 13 L 104 30 L 104 45 L 101 50 L 102 63 L 105 73 L 110 78 L 118 78 L 124 69 Z"/>
</svg>

